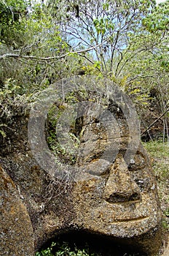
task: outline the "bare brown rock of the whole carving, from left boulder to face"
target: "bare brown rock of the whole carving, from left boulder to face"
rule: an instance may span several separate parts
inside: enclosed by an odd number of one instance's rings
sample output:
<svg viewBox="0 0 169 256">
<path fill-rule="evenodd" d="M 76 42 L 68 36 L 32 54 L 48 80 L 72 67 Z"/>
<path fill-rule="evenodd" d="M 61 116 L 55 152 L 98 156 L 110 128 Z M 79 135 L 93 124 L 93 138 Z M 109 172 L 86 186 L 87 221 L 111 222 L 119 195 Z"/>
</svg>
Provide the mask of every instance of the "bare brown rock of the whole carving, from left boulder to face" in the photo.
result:
<svg viewBox="0 0 169 256">
<path fill-rule="evenodd" d="M 8 173 L 1 170 L 6 200 L 1 207 L 4 255 L 30 256 L 34 246 L 39 249 L 53 236 L 85 230 L 155 256 L 161 244 L 157 184 L 141 145 L 126 165 L 124 152 L 130 138 L 122 118 L 124 136 L 112 162 L 99 158 L 108 143 L 105 129 L 95 118 L 82 120 L 78 129 L 83 155 L 76 162 L 79 180 L 71 184 L 38 165 L 28 144 L 27 122 L 28 114 L 15 110 L 7 138 L 0 142 L 1 166 Z"/>
</svg>

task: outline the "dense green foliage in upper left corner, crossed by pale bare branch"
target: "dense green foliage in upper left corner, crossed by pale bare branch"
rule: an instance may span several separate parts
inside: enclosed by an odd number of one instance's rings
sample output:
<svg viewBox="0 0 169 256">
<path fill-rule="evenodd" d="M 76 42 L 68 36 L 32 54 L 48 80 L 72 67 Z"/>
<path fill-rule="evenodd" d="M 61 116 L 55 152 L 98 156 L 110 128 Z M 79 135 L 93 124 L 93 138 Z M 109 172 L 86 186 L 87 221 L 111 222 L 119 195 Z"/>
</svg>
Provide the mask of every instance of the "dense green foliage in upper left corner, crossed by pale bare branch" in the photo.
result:
<svg viewBox="0 0 169 256">
<path fill-rule="evenodd" d="M 18 20 L 12 20 L 16 8 L 21 12 L 23 6 L 25 12 Z M 12 14 L 4 15 L 4 7 L 12 10 Z M 43 4 L 25 0 L 3 1 L 0 13 L 1 33 L 7 34 L 7 38 L 2 34 L 0 42 L 0 87 L 12 78 L 20 86 L 20 94 L 32 94 L 58 78 L 68 76 L 68 72 L 71 75 L 79 66 L 76 56 L 60 59 L 68 53 L 68 45 L 60 36 L 58 23 Z M 51 58 L 50 62 L 46 61 L 48 58 Z"/>
</svg>

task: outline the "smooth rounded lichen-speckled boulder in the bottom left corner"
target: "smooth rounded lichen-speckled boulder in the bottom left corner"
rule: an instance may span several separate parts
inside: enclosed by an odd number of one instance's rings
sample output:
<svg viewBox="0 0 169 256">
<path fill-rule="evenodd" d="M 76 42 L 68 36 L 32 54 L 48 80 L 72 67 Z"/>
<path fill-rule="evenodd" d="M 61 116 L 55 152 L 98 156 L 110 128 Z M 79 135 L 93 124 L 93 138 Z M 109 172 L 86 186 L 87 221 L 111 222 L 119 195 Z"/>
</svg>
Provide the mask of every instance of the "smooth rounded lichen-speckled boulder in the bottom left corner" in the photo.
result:
<svg viewBox="0 0 169 256">
<path fill-rule="evenodd" d="M 1 234 L 0 255 L 34 255 L 34 233 L 25 205 L 15 184 L 0 167 Z"/>
</svg>

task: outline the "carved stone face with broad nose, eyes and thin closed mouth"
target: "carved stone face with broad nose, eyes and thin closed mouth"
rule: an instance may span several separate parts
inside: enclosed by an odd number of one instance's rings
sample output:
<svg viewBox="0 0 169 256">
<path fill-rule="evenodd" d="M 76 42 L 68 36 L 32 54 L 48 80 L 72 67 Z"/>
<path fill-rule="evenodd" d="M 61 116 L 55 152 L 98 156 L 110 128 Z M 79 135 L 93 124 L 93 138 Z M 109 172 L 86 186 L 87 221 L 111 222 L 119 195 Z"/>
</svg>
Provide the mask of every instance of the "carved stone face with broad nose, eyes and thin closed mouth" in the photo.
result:
<svg viewBox="0 0 169 256">
<path fill-rule="evenodd" d="M 146 151 L 140 145 L 127 165 L 124 155 L 126 141 L 130 138 L 123 133 L 114 161 L 99 159 L 106 145 L 106 135 L 103 129 L 99 135 L 94 123 L 85 124 L 82 139 L 84 178 L 76 182 L 73 192 L 75 224 L 94 233 L 120 238 L 155 230 L 160 222 L 160 208 L 157 185 Z"/>
</svg>

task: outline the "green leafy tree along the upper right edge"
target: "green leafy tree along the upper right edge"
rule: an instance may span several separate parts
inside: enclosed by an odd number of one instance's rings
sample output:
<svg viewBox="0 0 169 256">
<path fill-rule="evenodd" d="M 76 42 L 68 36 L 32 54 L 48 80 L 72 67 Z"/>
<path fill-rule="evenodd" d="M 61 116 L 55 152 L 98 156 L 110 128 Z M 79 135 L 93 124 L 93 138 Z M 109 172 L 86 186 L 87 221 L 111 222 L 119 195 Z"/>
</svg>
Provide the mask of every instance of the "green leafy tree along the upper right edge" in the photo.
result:
<svg viewBox="0 0 169 256">
<path fill-rule="evenodd" d="M 154 8 L 142 22 L 142 33 L 140 37 L 133 37 L 135 48 L 141 48 L 143 45 L 149 47 L 149 51 L 141 53 L 127 64 L 125 73 L 130 70 L 128 75 L 126 90 L 132 95 L 135 94 L 137 105 L 140 102 L 152 104 L 156 108 L 156 114 L 162 116 L 163 121 L 163 140 L 168 138 L 168 18 L 169 1 L 159 4 Z M 141 107 L 141 106 L 140 106 Z M 139 108 L 141 115 L 143 108 Z M 148 123 L 148 126 L 150 124 Z M 169 138 L 168 138 L 169 140 Z"/>
</svg>

